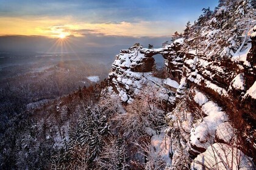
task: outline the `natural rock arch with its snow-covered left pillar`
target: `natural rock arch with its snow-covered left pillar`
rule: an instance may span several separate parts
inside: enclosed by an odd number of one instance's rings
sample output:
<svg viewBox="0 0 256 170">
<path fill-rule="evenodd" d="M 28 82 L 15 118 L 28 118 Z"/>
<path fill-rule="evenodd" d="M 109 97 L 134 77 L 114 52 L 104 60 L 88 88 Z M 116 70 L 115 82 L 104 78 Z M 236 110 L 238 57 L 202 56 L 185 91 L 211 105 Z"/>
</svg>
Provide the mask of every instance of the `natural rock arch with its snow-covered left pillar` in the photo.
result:
<svg viewBox="0 0 256 170">
<path fill-rule="evenodd" d="M 175 92 L 182 77 L 183 55 L 180 52 L 183 39 L 174 41 L 159 49 L 146 49 L 142 46 L 132 46 L 128 50 L 121 50 L 116 55 L 109 73 L 110 84 L 124 102 L 132 102 L 140 92 L 145 79 L 151 77 L 155 64 L 154 55 L 161 54 L 165 59 L 165 70 L 169 79 L 165 80 L 166 87 Z M 153 81 L 153 80 L 152 80 Z"/>
</svg>

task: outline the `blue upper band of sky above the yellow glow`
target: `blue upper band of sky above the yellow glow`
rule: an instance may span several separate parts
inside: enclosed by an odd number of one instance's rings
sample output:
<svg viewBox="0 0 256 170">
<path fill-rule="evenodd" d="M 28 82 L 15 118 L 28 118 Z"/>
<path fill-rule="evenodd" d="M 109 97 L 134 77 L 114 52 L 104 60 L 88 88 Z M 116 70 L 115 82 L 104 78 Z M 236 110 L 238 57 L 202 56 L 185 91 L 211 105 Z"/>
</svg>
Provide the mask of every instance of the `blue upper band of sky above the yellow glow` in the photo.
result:
<svg viewBox="0 0 256 170">
<path fill-rule="evenodd" d="M 202 0 L 85 0 L 85 1 L 0 1 L 1 16 L 74 16 L 85 22 L 137 22 L 165 20 L 194 21 L 204 7 L 218 1 Z"/>
</svg>

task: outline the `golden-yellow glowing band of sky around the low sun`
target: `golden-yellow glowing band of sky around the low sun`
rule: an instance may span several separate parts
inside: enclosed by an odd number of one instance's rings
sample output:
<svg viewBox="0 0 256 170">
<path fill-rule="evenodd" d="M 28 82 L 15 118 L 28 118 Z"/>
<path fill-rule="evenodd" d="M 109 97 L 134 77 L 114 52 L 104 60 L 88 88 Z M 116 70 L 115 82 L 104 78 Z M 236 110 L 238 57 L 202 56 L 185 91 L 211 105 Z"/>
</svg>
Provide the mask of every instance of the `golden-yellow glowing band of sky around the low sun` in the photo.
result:
<svg viewBox="0 0 256 170">
<path fill-rule="evenodd" d="M 159 29 L 152 25 L 166 25 Z M 50 17 L 4 17 L 0 16 L 1 35 L 36 35 L 50 38 L 64 38 L 69 35 L 86 36 L 88 34 L 110 36 L 171 36 L 171 23 L 165 21 L 139 21 L 119 23 L 78 22 L 70 16 Z M 61 37 L 60 37 L 61 35 Z"/>
</svg>

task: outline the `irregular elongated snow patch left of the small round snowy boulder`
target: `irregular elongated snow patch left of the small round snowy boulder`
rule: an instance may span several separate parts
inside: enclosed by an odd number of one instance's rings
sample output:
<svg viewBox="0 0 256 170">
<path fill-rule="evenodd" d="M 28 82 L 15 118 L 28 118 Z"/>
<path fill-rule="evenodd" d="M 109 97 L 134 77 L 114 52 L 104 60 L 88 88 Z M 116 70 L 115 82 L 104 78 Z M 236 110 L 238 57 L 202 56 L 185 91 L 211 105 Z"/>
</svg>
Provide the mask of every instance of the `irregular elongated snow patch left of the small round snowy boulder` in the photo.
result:
<svg viewBox="0 0 256 170">
<path fill-rule="evenodd" d="M 207 149 L 213 143 L 217 126 L 227 121 L 227 115 L 221 110 L 213 101 L 202 105 L 202 111 L 207 117 L 197 121 L 191 129 L 190 143 L 193 146 Z"/>
</svg>

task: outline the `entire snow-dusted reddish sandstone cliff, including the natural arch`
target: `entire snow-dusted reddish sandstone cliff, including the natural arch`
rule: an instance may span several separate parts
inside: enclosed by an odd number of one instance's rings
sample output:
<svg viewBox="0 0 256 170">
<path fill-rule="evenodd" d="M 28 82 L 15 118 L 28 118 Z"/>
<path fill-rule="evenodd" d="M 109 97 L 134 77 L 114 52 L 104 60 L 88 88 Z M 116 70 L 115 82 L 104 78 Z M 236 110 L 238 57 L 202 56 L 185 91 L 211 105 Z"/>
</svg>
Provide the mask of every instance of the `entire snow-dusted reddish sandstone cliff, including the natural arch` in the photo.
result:
<svg viewBox="0 0 256 170">
<path fill-rule="evenodd" d="M 165 58 L 169 80 L 178 83 L 168 88 L 176 106 L 167 116 L 173 125 L 168 134 L 189 146 L 184 152 L 195 158 L 214 143 L 236 142 L 244 154 L 256 158 L 256 10 L 247 1 L 235 1 L 206 11 L 185 39 L 160 49 L 121 50 L 109 80 L 123 101 L 132 102 L 143 88 L 158 53 Z M 179 148 L 170 151 L 177 159 L 180 147 L 173 148 Z"/>
</svg>

